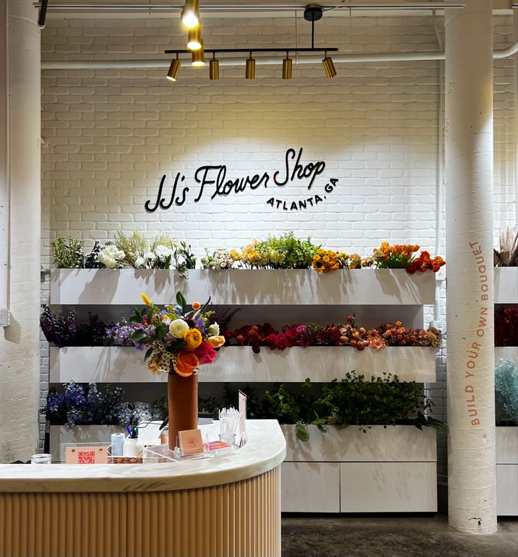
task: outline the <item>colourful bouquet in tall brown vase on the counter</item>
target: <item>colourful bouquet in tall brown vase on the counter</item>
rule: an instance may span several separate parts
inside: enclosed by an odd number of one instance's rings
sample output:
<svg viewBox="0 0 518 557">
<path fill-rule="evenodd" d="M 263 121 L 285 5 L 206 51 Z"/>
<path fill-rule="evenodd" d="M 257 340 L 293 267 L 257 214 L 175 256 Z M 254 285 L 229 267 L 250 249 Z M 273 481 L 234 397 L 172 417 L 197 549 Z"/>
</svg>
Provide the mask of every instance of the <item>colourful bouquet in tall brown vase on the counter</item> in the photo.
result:
<svg viewBox="0 0 518 557">
<path fill-rule="evenodd" d="M 178 431 L 197 429 L 198 375 L 201 365 L 214 362 L 216 350 L 225 343 L 219 326 L 212 322 L 209 300 L 187 308 L 183 295 L 176 294 L 176 305 L 160 308 L 142 294 L 147 307 L 129 319 L 133 327 L 131 340 L 144 357 L 150 373 L 168 374 L 169 448 L 174 451 Z"/>
</svg>

